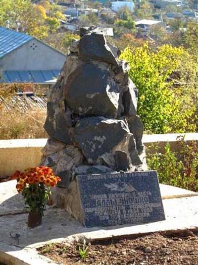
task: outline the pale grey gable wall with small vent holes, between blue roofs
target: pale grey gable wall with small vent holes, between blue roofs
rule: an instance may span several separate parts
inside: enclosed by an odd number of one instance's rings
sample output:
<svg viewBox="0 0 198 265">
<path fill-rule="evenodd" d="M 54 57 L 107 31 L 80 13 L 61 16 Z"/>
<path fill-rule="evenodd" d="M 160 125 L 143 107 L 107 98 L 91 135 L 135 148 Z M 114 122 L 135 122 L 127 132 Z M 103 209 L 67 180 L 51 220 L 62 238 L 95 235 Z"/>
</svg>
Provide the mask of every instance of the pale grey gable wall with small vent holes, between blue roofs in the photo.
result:
<svg viewBox="0 0 198 265">
<path fill-rule="evenodd" d="M 0 59 L 0 70 L 59 70 L 66 56 L 32 39 Z"/>
</svg>

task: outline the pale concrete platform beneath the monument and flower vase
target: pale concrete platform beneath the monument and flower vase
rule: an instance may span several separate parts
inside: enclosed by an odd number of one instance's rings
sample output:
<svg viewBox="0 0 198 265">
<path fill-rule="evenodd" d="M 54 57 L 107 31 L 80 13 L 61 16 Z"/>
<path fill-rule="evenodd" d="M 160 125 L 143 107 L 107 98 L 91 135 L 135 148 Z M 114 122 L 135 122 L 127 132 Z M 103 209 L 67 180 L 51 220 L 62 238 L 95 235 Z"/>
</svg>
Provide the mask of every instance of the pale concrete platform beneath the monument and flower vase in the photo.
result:
<svg viewBox="0 0 198 265">
<path fill-rule="evenodd" d="M 27 227 L 28 214 L 24 209 L 22 196 L 15 190 L 15 185 L 15 180 L 0 183 L 0 262 L 16 257 L 18 260 L 14 260 L 14 263 L 9 260 L 10 265 L 49 264 L 50 261 L 40 257 L 35 250 L 49 241 L 69 243 L 82 238 L 92 241 L 159 231 L 198 229 L 198 193 L 168 185 L 160 185 L 165 221 L 86 228 L 65 210 L 48 207 L 42 225 L 30 229 Z M 16 234 L 19 235 L 18 239 L 13 238 Z"/>
</svg>

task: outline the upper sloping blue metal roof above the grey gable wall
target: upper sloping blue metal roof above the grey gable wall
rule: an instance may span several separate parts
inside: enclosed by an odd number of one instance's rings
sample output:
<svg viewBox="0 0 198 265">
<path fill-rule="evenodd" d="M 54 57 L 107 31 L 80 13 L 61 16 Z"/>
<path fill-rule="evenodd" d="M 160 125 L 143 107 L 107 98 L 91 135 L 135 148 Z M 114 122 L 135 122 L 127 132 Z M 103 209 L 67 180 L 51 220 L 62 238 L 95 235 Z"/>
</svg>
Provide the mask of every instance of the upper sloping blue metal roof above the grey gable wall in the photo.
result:
<svg viewBox="0 0 198 265">
<path fill-rule="evenodd" d="M 0 58 L 33 39 L 27 34 L 0 27 Z"/>
</svg>

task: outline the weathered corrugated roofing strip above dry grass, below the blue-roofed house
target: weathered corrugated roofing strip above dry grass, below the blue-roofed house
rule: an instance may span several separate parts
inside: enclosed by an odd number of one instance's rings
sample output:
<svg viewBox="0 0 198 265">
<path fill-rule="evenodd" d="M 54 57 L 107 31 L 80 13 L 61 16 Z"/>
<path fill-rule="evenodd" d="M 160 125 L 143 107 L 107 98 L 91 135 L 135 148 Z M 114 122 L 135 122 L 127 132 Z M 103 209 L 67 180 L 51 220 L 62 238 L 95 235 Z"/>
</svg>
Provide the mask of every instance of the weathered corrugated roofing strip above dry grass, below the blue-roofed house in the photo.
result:
<svg viewBox="0 0 198 265">
<path fill-rule="evenodd" d="M 48 96 L 37 96 L 37 95 L 14 95 L 12 97 L 3 98 L 0 96 L 0 105 L 2 105 L 2 111 L 18 110 L 18 111 L 29 111 L 29 110 L 42 110 L 47 111 Z"/>
</svg>

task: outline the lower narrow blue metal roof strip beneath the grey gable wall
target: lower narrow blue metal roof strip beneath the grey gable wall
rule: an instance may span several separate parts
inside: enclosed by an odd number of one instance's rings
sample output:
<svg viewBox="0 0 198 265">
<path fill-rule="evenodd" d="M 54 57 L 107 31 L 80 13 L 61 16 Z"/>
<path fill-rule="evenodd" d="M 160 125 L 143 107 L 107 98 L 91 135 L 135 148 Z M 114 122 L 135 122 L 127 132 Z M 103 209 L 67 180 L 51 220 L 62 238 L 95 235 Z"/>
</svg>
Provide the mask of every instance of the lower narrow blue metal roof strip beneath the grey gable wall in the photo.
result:
<svg viewBox="0 0 198 265">
<path fill-rule="evenodd" d="M 60 70 L 4 71 L 0 83 L 54 83 Z"/>
</svg>

